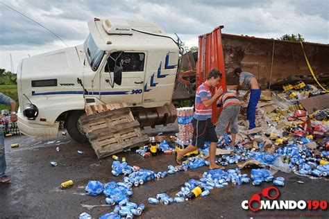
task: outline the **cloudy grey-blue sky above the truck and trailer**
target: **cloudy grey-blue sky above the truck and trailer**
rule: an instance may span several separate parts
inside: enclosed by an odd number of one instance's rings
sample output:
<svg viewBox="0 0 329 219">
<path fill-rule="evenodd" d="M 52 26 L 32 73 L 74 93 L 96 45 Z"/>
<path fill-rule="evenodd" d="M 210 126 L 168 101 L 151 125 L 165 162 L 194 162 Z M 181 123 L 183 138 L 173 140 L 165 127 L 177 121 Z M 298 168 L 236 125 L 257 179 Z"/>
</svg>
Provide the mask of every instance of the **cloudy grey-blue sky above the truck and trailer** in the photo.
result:
<svg viewBox="0 0 329 219">
<path fill-rule="evenodd" d="M 155 21 L 188 47 L 223 25 L 222 33 L 277 38 L 301 33 L 307 42 L 329 44 L 329 0 L 0 0 L 49 28 L 69 46 L 82 44 L 87 21 L 99 18 Z M 0 3 L 0 68 L 17 71 L 28 55 L 65 48 L 33 21 Z M 174 37 L 176 38 L 176 37 Z"/>
</svg>

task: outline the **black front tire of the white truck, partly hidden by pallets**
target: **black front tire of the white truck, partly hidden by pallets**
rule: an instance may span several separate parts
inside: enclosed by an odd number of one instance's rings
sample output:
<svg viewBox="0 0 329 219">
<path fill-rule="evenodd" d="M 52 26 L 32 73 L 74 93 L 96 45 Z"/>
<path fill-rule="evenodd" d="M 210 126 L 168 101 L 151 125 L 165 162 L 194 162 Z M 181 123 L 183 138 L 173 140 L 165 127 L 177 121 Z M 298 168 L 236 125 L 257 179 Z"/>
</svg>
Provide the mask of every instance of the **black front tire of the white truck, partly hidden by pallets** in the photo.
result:
<svg viewBox="0 0 329 219">
<path fill-rule="evenodd" d="M 78 128 L 78 119 L 83 114 L 85 114 L 83 110 L 76 110 L 71 112 L 67 117 L 67 132 L 69 132 L 69 136 L 72 139 L 78 141 L 79 143 L 85 143 L 88 141 L 85 133 L 83 133 L 83 131 Z"/>
</svg>

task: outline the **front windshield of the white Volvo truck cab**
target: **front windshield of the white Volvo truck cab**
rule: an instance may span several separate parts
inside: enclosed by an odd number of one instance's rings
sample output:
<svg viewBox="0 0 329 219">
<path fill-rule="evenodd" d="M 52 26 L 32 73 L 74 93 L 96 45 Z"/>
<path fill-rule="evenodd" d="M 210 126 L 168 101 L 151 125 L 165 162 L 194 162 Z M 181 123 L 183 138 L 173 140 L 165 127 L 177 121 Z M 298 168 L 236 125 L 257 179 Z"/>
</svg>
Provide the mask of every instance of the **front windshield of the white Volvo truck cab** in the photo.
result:
<svg viewBox="0 0 329 219">
<path fill-rule="evenodd" d="M 90 68 L 92 71 L 96 71 L 99 68 L 99 64 L 103 58 L 104 51 L 100 50 L 96 46 L 91 34 L 88 35 L 87 40 L 85 40 L 83 45 L 85 46 L 85 55 L 87 57 Z"/>
</svg>

